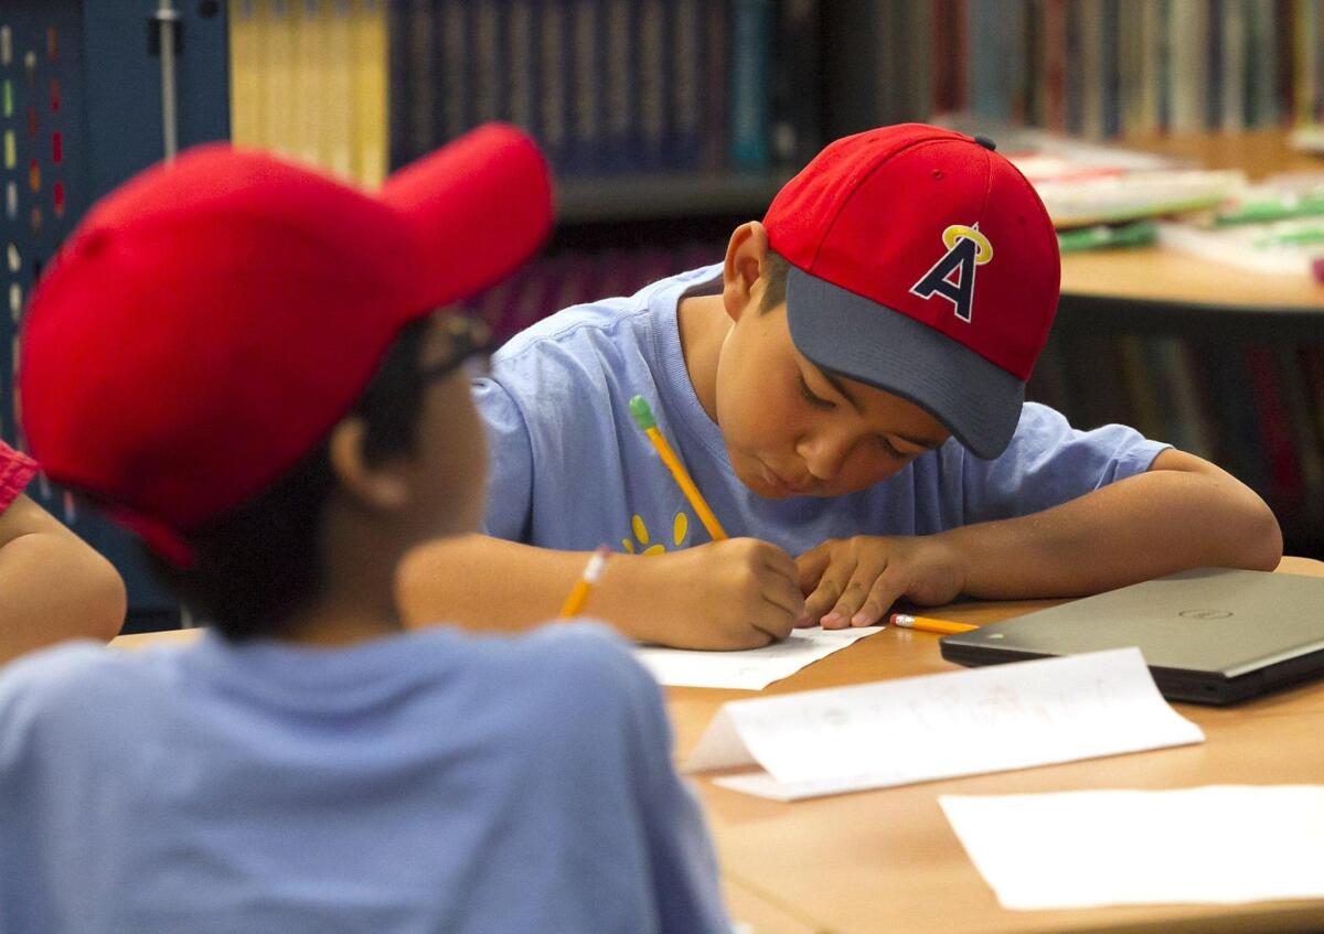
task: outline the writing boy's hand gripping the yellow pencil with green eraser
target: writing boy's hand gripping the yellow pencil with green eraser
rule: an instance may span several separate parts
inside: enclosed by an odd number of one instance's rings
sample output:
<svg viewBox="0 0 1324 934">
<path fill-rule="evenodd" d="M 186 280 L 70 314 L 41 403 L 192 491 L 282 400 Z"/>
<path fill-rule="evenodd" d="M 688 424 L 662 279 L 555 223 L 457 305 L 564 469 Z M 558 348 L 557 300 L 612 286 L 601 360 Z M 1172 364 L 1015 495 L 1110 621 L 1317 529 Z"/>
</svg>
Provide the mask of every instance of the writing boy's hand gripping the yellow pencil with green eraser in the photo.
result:
<svg viewBox="0 0 1324 934">
<path fill-rule="evenodd" d="M 629 570 L 626 572 L 626 565 Z M 714 541 L 655 557 L 626 558 L 643 624 L 637 638 L 679 648 L 757 648 L 784 639 L 804 615 L 796 562 L 756 538 Z"/>
</svg>

